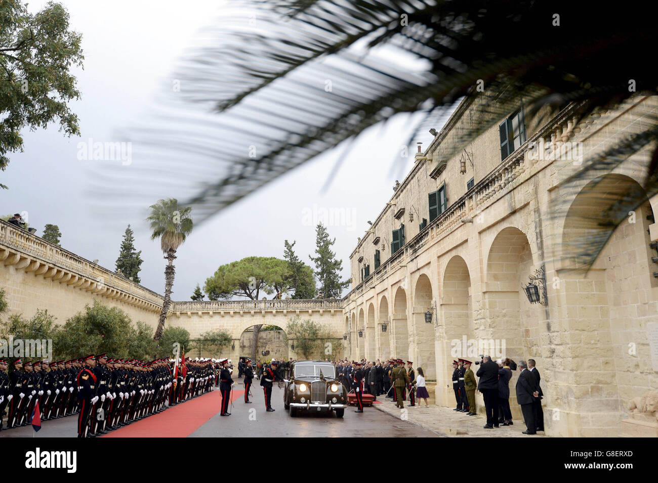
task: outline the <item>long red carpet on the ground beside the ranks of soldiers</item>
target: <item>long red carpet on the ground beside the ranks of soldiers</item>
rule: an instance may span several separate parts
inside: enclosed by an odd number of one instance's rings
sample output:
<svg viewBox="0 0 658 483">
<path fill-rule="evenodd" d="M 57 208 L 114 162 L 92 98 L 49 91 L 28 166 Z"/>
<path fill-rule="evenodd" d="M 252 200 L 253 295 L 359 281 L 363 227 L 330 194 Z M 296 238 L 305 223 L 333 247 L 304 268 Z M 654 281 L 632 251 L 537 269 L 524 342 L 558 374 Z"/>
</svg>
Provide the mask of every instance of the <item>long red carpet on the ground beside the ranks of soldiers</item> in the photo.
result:
<svg viewBox="0 0 658 483">
<path fill-rule="evenodd" d="M 231 392 L 231 400 L 243 397 L 244 389 Z M 146 417 L 105 434 L 103 438 L 186 438 L 221 409 L 222 393 L 209 392 L 176 404 L 162 413 Z"/>
</svg>

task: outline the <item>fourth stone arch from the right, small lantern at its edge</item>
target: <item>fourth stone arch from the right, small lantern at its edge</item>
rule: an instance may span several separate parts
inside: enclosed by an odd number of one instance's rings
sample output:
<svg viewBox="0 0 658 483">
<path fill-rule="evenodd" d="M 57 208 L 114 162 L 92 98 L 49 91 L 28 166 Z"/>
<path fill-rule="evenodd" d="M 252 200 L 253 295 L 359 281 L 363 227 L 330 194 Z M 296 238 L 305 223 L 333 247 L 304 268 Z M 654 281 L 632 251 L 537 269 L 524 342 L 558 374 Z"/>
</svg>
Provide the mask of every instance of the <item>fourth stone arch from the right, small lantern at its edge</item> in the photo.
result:
<svg viewBox="0 0 658 483">
<path fill-rule="evenodd" d="M 416 281 L 414 290 L 413 328 L 409 354 L 414 367 L 422 367 L 427 380 L 436 380 L 436 348 L 434 346 L 434 315 L 432 323 L 426 323 L 425 313 L 434 306 L 432 283 L 430 277 L 422 273 Z"/>
</svg>

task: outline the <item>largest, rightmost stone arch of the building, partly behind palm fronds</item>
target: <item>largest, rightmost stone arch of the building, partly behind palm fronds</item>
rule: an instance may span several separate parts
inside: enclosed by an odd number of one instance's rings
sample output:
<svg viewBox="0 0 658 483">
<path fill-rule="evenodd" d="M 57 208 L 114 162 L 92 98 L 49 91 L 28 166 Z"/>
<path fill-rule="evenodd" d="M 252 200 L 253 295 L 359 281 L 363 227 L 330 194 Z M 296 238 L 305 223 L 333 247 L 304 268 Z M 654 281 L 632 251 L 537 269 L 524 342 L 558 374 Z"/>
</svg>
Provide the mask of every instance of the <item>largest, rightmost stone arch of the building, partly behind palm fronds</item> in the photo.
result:
<svg viewBox="0 0 658 483">
<path fill-rule="evenodd" d="M 648 233 L 654 221 L 642 186 L 619 173 L 590 181 L 569 206 L 557 271 L 563 294 L 561 323 L 563 330 L 583 335 L 565 363 L 610 371 L 609 390 L 570 401 L 569 409 L 597 411 L 601 417 L 620 421 L 620 411 L 629 400 L 645 393 L 642 381 L 653 375 L 651 361 L 630 354 L 629 348 L 636 354 L 650 350 L 648 342 L 638 343 L 638 333 L 656 317 L 658 279 L 653 274 L 658 264 L 652 258 L 658 253 L 649 246 Z M 613 385 L 615 381 L 624 381 L 623 390 Z M 570 388 L 585 389 L 584 383 Z"/>
</svg>

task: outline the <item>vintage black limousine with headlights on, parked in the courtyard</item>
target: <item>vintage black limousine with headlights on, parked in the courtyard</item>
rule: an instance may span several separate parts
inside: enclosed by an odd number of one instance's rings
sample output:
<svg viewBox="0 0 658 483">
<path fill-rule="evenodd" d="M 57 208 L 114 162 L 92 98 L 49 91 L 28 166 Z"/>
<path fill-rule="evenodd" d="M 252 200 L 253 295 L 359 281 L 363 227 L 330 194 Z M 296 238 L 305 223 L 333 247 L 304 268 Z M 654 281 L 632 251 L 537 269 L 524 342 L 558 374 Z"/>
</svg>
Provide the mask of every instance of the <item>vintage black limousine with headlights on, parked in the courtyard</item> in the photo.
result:
<svg viewBox="0 0 658 483">
<path fill-rule="evenodd" d="M 284 407 L 291 417 L 297 411 L 336 411 L 343 417 L 347 406 L 347 389 L 336 379 L 336 367 L 323 361 L 296 361 L 286 380 Z"/>
</svg>

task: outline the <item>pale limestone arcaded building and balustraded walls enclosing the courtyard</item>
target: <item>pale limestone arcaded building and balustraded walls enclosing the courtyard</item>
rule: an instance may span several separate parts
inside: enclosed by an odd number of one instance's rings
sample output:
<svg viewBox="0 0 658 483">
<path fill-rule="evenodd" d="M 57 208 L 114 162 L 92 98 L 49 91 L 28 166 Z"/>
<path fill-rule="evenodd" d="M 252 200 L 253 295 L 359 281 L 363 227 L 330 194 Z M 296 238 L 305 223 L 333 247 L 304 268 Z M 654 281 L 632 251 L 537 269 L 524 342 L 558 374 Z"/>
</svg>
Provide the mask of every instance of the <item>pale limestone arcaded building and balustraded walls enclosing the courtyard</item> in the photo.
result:
<svg viewBox="0 0 658 483">
<path fill-rule="evenodd" d="M 442 145 L 474 109 L 459 106 L 353 250 L 342 300 L 173 302 L 167 323 L 192 338 L 229 331 L 235 359 L 249 327 L 313 319 L 343 340 L 332 358 L 414 361 L 445 406 L 456 357 L 534 358 L 547 434 L 620 434 L 628 402 L 658 388 L 657 198 L 626 196 L 644 193 L 652 146 L 605 169 L 587 160 L 624 143 L 658 102 L 636 97 L 582 120 L 576 108 L 511 112 L 446 159 Z M 573 151 L 549 156 L 545 146 Z M 65 321 L 98 298 L 157 325 L 159 294 L 2 221 L 0 262 L 14 312 Z M 538 279 L 540 303 L 530 303 L 524 287 Z"/>
</svg>

